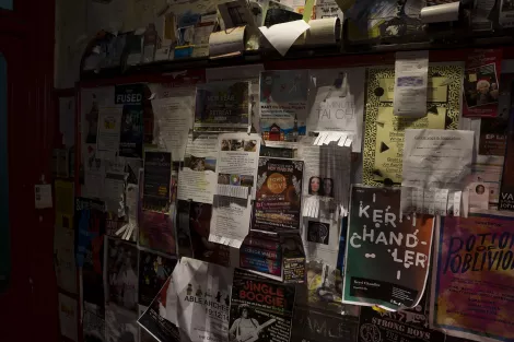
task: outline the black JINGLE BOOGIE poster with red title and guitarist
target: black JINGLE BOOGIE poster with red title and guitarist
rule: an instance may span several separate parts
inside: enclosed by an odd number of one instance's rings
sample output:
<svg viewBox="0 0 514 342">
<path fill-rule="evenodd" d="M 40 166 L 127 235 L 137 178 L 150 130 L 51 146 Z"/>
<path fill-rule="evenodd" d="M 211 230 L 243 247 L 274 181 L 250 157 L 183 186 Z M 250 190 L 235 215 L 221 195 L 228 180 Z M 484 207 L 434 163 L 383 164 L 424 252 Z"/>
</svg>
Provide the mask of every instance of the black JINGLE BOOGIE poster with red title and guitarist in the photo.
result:
<svg viewBox="0 0 514 342">
<path fill-rule="evenodd" d="M 294 295 L 294 286 L 235 269 L 229 341 L 289 341 Z"/>
</svg>

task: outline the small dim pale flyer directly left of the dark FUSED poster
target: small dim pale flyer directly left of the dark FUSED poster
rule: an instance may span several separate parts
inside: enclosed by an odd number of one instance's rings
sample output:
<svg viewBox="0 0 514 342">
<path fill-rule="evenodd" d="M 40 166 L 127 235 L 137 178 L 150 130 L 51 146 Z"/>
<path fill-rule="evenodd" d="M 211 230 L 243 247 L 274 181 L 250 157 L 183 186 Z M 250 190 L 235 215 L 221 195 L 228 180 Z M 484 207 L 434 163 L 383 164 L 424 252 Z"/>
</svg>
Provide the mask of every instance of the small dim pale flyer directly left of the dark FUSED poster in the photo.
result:
<svg viewBox="0 0 514 342">
<path fill-rule="evenodd" d="M 98 151 L 118 151 L 122 108 L 102 107 L 98 113 Z"/>
</svg>

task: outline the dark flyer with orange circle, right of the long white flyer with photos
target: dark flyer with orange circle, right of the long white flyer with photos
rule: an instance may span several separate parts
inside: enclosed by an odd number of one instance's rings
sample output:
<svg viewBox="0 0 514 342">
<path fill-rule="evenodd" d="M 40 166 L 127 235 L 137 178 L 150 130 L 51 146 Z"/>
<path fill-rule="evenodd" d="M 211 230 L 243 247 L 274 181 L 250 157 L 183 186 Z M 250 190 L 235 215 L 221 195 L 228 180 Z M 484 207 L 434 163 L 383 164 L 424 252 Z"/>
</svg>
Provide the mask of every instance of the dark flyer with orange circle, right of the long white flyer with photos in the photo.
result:
<svg viewBox="0 0 514 342">
<path fill-rule="evenodd" d="M 303 167 L 301 161 L 259 158 L 253 229 L 300 228 Z"/>
</svg>

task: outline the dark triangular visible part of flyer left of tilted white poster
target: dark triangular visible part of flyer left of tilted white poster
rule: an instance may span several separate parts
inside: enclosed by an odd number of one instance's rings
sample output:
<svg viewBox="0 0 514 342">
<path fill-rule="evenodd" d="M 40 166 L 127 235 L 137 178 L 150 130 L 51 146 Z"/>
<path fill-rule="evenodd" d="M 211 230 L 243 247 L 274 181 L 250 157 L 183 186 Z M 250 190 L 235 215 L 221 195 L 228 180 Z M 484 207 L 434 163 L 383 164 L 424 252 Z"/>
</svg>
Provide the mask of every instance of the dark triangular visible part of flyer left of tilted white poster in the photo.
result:
<svg viewBox="0 0 514 342">
<path fill-rule="evenodd" d="M 139 305 L 150 306 L 153 298 L 172 275 L 177 259 L 139 250 Z"/>
</svg>

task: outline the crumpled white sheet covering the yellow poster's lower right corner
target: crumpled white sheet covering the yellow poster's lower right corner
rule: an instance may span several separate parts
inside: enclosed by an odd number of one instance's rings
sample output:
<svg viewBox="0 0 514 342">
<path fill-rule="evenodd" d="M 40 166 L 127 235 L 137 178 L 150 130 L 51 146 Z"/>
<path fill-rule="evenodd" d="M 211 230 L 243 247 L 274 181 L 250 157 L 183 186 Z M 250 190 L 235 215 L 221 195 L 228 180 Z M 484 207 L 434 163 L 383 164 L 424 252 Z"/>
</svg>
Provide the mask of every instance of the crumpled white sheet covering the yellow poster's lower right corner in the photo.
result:
<svg viewBox="0 0 514 342">
<path fill-rule="evenodd" d="M 401 186 L 462 190 L 474 141 L 472 131 L 406 129 Z"/>
</svg>

